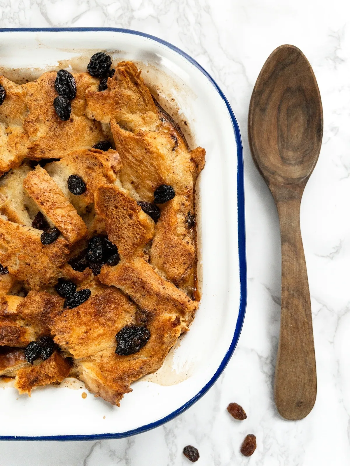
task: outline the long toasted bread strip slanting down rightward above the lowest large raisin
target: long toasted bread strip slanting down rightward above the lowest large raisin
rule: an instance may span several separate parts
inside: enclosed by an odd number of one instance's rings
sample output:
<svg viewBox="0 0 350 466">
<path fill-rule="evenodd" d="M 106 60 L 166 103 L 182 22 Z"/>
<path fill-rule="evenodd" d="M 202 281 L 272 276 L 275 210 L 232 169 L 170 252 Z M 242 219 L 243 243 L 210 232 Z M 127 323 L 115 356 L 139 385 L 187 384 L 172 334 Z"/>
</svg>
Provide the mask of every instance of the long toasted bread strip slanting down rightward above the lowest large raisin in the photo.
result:
<svg viewBox="0 0 350 466">
<path fill-rule="evenodd" d="M 114 267 L 103 266 L 98 279 L 106 285 L 120 288 L 141 309 L 151 314 L 179 315 L 182 331 L 188 329 L 198 308 L 198 302 L 192 301 L 183 291 L 164 280 L 139 257 L 120 261 Z"/>
</svg>

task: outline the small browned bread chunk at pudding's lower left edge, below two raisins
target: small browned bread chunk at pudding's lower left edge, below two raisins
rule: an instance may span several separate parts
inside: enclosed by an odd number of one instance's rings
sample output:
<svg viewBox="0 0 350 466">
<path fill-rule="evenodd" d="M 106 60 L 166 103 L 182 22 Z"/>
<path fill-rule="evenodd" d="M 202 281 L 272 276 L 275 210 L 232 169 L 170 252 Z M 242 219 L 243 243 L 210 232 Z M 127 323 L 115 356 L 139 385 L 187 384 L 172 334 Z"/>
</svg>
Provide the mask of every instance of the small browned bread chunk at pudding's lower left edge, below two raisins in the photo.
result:
<svg viewBox="0 0 350 466">
<path fill-rule="evenodd" d="M 70 366 L 68 359 L 54 351 L 46 361 L 37 359 L 34 365 L 18 370 L 14 386 L 20 394 L 28 393 L 30 396 L 34 387 L 61 383 L 68 376 Z"/>
</svg>

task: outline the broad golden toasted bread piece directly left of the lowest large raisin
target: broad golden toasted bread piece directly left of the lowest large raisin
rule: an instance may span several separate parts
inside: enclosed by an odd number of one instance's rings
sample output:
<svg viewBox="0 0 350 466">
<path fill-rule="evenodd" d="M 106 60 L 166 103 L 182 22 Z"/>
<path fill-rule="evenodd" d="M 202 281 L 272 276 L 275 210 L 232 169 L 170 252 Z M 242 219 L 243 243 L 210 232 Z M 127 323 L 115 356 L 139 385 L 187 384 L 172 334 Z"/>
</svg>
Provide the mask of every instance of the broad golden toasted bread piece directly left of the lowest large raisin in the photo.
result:
<svg viewBox="0 0 350 466">
<path fill-rule="evenodd" d="M 133 322 L 136 306 L 118 289 L 92 281 L 90 298 L 73 309 L 55 309 L 50 328 L 55 343 L 75 358 L 115 349 L 115 336 Z"/>
</svg>

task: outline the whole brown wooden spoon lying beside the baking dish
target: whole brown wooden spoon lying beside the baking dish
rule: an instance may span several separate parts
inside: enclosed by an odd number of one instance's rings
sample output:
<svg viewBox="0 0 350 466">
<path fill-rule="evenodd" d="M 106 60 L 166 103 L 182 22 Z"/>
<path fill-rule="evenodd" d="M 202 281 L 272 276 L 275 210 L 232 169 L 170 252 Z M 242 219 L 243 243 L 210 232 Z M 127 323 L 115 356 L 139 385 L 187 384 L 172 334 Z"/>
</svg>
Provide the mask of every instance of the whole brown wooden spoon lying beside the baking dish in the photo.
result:
<svg viewBox="0 0 350 466">
<path fill-rule="evenodd" d="M 321 96 L 310 63 L 293 45 L 266 60 L 250 101 L 252 158 L 280 218 L 282 291 L 274 398 L 281 416 L 302 419 L 317 391 L 308 274 L 300 231 L 300 203 L 321 149 Z"/>
</svg>

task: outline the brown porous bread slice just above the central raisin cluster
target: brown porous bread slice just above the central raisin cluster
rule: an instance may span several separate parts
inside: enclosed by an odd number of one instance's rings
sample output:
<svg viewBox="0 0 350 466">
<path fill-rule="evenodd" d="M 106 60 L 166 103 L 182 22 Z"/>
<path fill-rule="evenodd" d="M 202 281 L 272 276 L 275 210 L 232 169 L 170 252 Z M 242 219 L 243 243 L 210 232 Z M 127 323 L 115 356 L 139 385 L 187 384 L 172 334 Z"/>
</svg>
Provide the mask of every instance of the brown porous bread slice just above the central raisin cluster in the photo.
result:
<svg viewBox="0 0 350 466">
<path fill-rule="evenodd" d="M 95 209 L 105 219 L 108 238 L 122 257 L 130 258 L 154 236 L 154 221 L 136 201 L 115 185 L 102 185 L 95 193 Z"/>
</svg>

